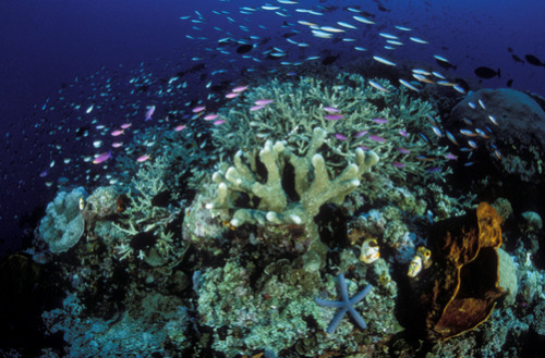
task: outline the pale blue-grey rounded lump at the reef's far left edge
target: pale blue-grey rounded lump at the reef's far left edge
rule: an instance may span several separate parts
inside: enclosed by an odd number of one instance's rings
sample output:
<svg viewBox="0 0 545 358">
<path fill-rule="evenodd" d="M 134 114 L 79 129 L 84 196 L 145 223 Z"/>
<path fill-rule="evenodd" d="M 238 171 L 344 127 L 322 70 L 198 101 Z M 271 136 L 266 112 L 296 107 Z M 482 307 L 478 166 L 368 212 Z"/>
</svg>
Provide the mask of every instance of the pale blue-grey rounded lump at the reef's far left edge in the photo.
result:
<svg viewBox="0 0 545 358">
<path fill-rule="evenodd" d="M 73 247 L 83 235 L 85 220 L 80 212 L 80 198 L 87 194 L 83 187 L 70 193 L 60 192 L 46 209 L 39 224 L 39 234 L 49 244 L 51 252 L 63 252 Z"/>
</svg>

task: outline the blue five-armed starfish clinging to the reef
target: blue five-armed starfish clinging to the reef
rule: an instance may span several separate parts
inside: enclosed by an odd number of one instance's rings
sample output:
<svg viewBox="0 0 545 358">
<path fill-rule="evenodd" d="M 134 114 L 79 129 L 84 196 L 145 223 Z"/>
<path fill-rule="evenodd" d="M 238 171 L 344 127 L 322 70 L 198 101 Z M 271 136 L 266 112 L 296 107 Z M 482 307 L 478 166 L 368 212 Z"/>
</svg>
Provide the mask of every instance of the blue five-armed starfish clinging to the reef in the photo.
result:
<svg viewBox="0 0 545 358">
<path fill-rule="evenodd" d="M 341 293 L 341 300 L 327 300 L 327 299 L 322 299 L 322 298 L 314 298 L 314 301 L 318 304 L 319 306 L 324 307 L 331 307 L 331 308 L 340 308 L 337 314 L 335 314 L 334 320 L 331 323 L 329 323 L 329 326 L 327 328 L 326 332 L 331 334 L 334 333 L 335 329 L 339 325 L 340 321 L 344 317 L 344 314 L 350 312 L 354 321 L 362 328 L 362 330 L 365 330 L 367 328 L 367 324 L 365 324 L 365 321 L 363 318 L 358 313 L 358 311 L 354 309 L 354 305 L 361 301 L 367 294 L 370 293 L 371 288 L 373 288 L 372 285 L 367 285 L 367 287 L 363 288 L 362 292 L 360 292 L 358 295 L 355 295 L 352 298 L 348 298 L 348 289 L 347 289 L 347 282 L 344 281 L 344 275 L 341 273 L 338 276 L 339 280 L 339 288 Z"/>
</svg>

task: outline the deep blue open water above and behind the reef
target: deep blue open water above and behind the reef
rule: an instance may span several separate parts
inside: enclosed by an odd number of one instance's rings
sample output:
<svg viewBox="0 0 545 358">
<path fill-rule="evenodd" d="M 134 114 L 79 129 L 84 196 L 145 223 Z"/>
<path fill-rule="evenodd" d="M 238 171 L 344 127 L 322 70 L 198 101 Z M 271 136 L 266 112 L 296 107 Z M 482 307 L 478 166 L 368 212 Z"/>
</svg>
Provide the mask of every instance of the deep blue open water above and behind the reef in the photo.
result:
<svg viewBox="0 0 545 358">
<path fill-rule="evenodd" d="M 114 184 L 124 152 L 112 144 L 217 110 L 245 78 L 387 60 L 441 74 L 455 95 L 463 84 L 545 97 L 543 14 L 538 0 L 2 1 L 0 254 L 29 244 L 59 188 Z"/>
</svg>

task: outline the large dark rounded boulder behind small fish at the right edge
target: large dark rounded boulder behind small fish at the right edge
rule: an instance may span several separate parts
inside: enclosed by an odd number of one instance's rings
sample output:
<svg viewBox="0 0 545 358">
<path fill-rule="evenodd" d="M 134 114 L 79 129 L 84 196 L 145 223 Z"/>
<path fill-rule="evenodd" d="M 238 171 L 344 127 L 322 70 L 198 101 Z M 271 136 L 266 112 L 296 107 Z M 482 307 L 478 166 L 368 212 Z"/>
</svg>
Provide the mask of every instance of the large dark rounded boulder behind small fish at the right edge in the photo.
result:
<svg viewBox="0 0 545 358">
<path fill-rule="evenodd" d="M 545 186 L 545 111 L 533 97 L 508 88 L 481 89 L 459 102 L 444 125 L 460 147 L 476 147 L 471 161 L 479 165 L 468 169 L 473 181 L 501 174 L 514 184 Z"/>
</svg>

